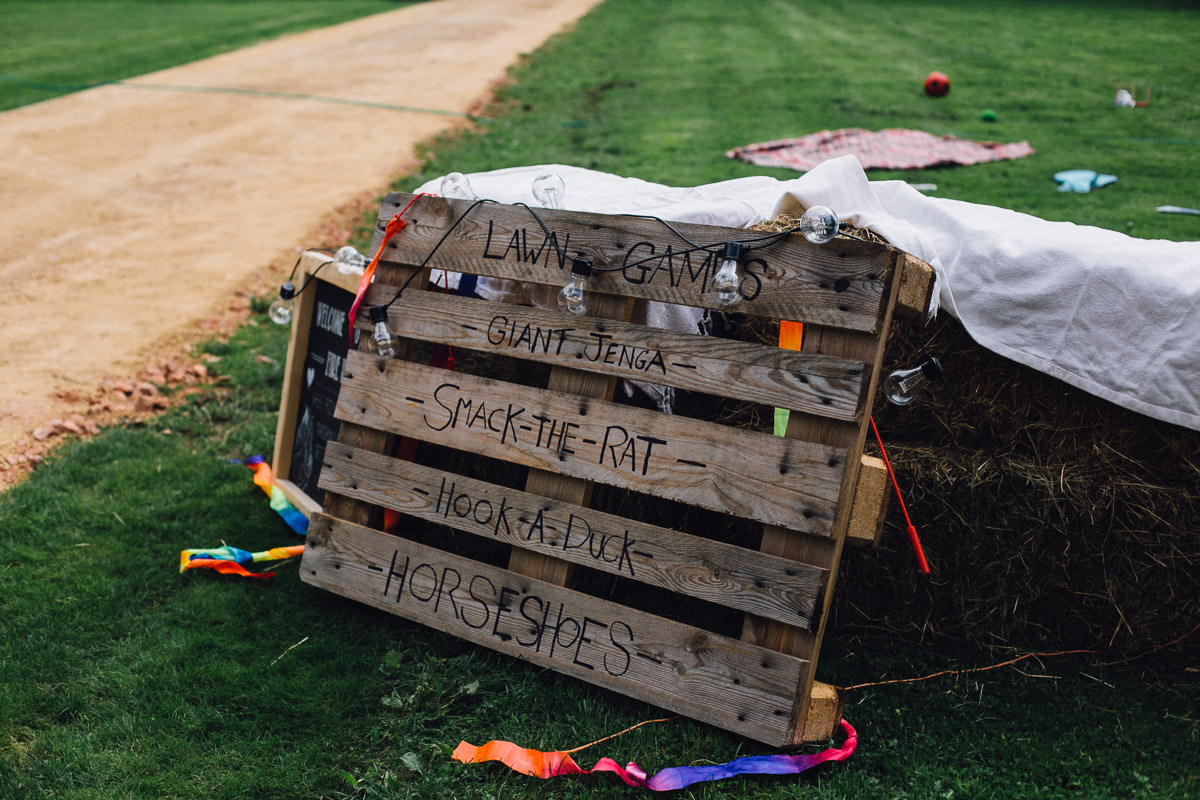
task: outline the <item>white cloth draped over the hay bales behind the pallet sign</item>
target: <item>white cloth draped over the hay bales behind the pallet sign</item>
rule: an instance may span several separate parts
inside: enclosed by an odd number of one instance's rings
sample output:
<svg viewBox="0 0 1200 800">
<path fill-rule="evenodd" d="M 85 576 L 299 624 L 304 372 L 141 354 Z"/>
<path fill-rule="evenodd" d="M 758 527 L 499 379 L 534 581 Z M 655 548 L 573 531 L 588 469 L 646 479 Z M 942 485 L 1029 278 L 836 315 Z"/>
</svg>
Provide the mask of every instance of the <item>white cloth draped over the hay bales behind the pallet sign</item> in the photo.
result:
<svg viewBox="0 0 1200 800">
<path fill-rule="evenodd" d="M 925 197 L 904 181 L 869 181 L 852 156 L 792 180 L 757 176 L 697 187 L 562 164 L 468 178 L 479 197 L 536 206 L 532 184 L 545 172 L 563 178 L 563 206 L 572 211 L 746 228 L 827 205 L 842 222 L 931 264 L 938 277 L 931 313 L 940 303 L 980 345 L 1124 408 L 1200 429 L 1200 242 L 1134 239 Z M 440 184 L 416 191 L 438 192 Z M 539 299 L 523 291 L 480 278 L 479 293 L 488 299 L 553 301 L 551 293 Z M 649 306 L 650 324 L 696 331 L 702 323 L 701 309 Z M 953 365 L 946 366 L 953 377 Z"/>
</svg>

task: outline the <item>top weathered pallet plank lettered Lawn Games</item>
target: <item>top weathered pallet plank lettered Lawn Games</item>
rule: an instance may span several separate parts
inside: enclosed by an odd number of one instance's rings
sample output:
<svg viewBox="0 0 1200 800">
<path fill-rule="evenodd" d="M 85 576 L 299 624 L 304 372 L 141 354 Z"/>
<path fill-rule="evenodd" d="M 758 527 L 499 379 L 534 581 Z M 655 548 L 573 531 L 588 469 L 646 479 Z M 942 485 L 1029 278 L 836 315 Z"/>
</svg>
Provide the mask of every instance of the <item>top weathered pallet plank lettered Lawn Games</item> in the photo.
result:
<svg viewBox="0 0 1200 800">
<path fill-rule="evenodd" d="M 384 212 L 404 207 L 412 194 L 389 194 Z M 592 259 L 596 291 L 726 311 L 709 287 L 725 241 L 766 245 L 769 236 L 738 228 L 672 223 L 695 249 L 660 222 L 638 217 L 484 204 L 443 235 L 467 211 L 467 200 L 422 197 L 407 215 L 408 228 L 385 251 L 401 264 L 562 285 L 569 257 Z M 547 235 L 547 233 L 550 235 Z M 557 245 L 557 247 L 556 247 Z M 787 236 L 754 249 L 743 261 L 743 301 L 737 311 L 852 330 L 874 331 L 892 261 L 888 247 L 838 239 L 816 246 Z"/>
</svg>

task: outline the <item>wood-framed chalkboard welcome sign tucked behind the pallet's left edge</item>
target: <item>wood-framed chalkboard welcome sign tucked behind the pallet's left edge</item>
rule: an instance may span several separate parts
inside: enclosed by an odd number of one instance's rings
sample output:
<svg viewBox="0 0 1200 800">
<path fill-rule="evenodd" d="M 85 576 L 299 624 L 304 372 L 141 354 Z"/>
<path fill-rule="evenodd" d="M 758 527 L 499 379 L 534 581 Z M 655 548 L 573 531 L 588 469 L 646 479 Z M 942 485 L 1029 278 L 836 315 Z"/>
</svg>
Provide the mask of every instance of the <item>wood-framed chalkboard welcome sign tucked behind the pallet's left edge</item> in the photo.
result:
<svg viewBox="0 0 1200 800">
<path fill-rule="evenodd" d="M 305 515 L 320 509 L 322 458 L 341 426 L 334 408 L 350 349 L 349 311 L 361 279 L 332 264 L 318 272 L 328 260 L 324 253 L 305 253 L 293 279 L 296 288 L 310 278 L 312 283 L 296 297 L 271 468 L 280 489 Z"/>
</svg>

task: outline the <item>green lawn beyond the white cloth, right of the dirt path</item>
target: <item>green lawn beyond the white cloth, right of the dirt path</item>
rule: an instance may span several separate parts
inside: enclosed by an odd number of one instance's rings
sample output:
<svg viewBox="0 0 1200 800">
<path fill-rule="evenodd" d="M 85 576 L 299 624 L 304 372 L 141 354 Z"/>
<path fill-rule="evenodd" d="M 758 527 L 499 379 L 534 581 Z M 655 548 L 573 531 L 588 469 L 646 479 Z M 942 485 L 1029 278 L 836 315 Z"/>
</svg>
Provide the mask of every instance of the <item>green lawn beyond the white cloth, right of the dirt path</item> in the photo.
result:
<svg viewBox="0 0 1200 800">
<path fill-rule="evenodd" d="M 938 197 L 1001 205 L 1144 239 L 1200 239 L 1200 13 L 1195 4 L 912 0 L 654 4 L 610 0 L 577 32 L 534 53 L 502 92 L 503 119 L 420 178 L 569 163 L 673 186 L 769 174 L 724 154 L 840 127 L 911 127 L 1028 140 L 1018 161 L 871 172 L 937 184 Z M 950 76 L 926 97 L 932 70 Z M 1120 86 L 1151 106 L 1112 106 Z M 994 109 L 996 122 L 980 114 Z M 1054 174 L 1118 182 L 1060 193 Z M 408 187 L 412 181 L 402 181 Z M 566 192 L 570 193 L 570 186 Z"/>
</svg>

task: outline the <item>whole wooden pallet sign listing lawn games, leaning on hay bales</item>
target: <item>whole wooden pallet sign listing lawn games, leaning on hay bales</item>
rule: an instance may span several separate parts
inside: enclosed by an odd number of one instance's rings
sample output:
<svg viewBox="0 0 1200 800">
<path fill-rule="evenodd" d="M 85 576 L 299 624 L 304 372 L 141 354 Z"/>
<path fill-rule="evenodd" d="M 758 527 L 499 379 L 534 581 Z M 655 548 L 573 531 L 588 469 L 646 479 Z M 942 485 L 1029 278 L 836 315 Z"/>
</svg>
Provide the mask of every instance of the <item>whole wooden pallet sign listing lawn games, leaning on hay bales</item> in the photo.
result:
<svg viewBox="0 0 1200 800">
<path fill-rule="evenodd" d="M 389 196 L 379 231 L 412 199 Z M 632 321 L 720 309 L 720 247 L 750 231 L 431 197 L 406 219 L 364 303 L 391 301 L 401 345 L 347 355 L 302 579 L 773 746 L 828 736 L 840 700 L 814 672 L 907 257 L 752 249 L 734 311 L 804 320 L 791 351 Z M 419 272 L 557 291 L 575 255 L 596 269 L 583 317 Z M 787 435 L 618 402 L 619 379 L 787 408 Z"/>
</svg>

